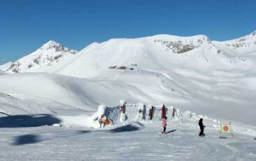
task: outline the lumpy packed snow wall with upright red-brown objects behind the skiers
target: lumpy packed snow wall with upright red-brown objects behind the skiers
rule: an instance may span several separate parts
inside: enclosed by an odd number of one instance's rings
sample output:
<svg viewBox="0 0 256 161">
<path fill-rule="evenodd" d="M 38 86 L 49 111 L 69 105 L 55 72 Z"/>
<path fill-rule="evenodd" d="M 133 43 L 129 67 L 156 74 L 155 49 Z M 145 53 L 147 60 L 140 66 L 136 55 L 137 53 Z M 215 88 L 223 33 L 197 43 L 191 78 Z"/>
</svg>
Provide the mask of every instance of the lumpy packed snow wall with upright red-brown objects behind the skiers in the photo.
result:
<svg viewBox="0 0 256 161">
<path fill-rule="evenodd" d="M 153 115 L 150 119 L 149 112 L 152 105 L 144 105 L 143 103 L 126 103 L 125 121 L 121 119 L 121 105 L 115 107 L 108 107 L 105 105 L 99 105 L 98 111 L 93 114 L 91 119 L 96 123 L 101 115 L 105 115 L 111 121 L 111 125 L 128 124 L 129 121 L 161 121 L 162 119 L 162 105 L 153 105 Z M 174 109 L 174 117 L 173 115 Z M 195 113 L 190 111 L 180 112 L 178 108 L 174 106 L 165 107 L 165 115 L 167 120 L 181 120 L 188 119 L 190 121 L 198 121 L 199 117 Z"/>
</svg>

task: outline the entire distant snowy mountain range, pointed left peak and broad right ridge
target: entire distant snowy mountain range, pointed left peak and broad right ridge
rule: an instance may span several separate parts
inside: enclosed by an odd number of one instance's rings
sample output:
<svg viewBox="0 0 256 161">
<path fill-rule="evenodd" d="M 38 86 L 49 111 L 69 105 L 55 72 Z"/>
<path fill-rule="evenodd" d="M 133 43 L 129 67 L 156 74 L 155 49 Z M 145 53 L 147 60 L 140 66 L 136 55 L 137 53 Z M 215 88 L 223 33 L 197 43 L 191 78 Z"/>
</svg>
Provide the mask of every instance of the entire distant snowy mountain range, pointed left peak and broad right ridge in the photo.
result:
<svg viewBox="0 0 256 161">
<path fill-rule="evenodd" d="M 179 37 L 154 35 L 137 39 L 112 39 L 90 44 L 82 51 L 50 41 L 15 62 L 0 66 L 6 73 L 48 72 L 91 78 L 108 67 L 133 63 L 146 69 L 248 69 L 255 67 L 256 31 L 235 40 L 217 42 L 206 35 Z"/>
</svg>

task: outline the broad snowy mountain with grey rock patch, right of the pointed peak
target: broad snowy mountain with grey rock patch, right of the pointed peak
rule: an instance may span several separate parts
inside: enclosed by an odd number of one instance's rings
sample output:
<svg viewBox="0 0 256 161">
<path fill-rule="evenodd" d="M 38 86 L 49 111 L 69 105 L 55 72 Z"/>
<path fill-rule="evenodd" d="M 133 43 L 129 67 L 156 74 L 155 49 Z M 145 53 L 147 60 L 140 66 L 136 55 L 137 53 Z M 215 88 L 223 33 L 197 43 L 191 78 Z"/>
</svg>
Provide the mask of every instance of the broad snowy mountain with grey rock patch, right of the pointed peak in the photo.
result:
<svg viewBox="0 0 256 161">
<path fill-rule="evenodd" d="M 255 37 L 254 32 L 228 42 L 211 42 L 205 35 L 113 39 L 86 46 L 76 56 L 55 65 L 47 72 L 93 78 L 108 71 L 109 67 L 131 68 L 133 65 L 137 65 L 135 69 L 153 71 L 172 71 L 176 68 L 198 71 L 255 70 Z M 236 44 L 240 47 L 235 47 Z"/>
</svg>

